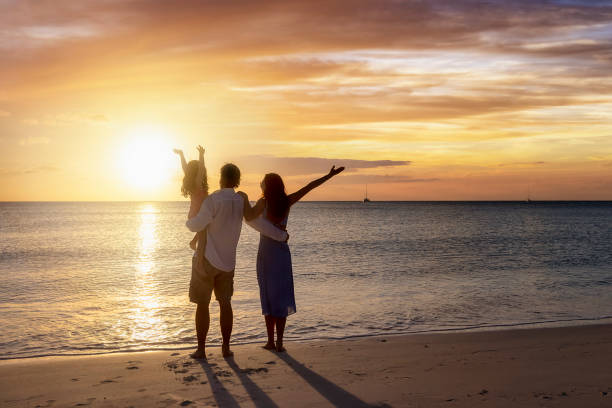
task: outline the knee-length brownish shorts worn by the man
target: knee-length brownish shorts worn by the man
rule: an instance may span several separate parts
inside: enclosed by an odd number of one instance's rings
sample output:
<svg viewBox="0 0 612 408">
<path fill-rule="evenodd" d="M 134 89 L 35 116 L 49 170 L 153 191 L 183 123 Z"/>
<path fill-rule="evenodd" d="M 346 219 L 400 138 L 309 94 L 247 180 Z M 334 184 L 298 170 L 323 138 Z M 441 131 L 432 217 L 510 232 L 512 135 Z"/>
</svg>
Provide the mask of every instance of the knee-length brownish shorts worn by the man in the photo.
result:
<svg viewBox="0 0 612 408">
<path fill-rule="evenodd" d="M 234 271 L 225 272 L 215 268 L 202 256 L 191 258 L 191 282 L 189 282 L 189 300 L 193 303 L 210 303 L 213 290 L 219 302 L 230 301 L 234 294 Z"/>
</svg>

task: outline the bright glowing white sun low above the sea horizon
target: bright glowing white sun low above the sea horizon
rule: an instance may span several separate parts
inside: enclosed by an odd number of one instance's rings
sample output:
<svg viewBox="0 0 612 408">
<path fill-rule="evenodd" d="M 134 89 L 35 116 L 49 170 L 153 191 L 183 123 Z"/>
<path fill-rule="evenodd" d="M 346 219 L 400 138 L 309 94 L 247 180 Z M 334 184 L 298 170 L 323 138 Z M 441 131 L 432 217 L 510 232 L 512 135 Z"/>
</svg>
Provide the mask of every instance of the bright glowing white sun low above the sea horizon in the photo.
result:
<svg viewBox="0 0 612 408">
<path fill-rule="evenodd" d="M 121 177 L 131 186 L 142 189 L 155 189 L 166 184 L 175 164 L 168 139 L 163 128 L 153 125 L 126 131 L 119 155 Z"/>
</svg>

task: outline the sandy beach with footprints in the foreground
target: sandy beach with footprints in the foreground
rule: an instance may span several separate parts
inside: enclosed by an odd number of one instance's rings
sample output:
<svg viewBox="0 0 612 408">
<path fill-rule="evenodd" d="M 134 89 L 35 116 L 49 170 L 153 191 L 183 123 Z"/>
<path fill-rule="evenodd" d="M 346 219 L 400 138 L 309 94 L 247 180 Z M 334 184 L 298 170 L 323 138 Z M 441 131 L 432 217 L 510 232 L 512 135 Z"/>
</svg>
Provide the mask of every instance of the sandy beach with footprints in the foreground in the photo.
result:
<svg viewBox="0 0 612 408">
<path fill-rule="evenodd" d="M 3 407 L 612 407 L 612 325 L 0 362 Z"/>
</svg>

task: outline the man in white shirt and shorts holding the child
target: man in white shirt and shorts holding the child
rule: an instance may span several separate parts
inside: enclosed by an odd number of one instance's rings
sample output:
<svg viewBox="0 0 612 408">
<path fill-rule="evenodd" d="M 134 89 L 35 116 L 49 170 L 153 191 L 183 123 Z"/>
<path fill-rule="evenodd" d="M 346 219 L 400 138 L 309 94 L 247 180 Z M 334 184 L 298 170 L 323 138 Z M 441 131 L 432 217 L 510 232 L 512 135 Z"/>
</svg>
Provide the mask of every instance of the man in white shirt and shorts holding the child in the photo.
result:
<svg viewBox="0 0 612 408">
<path fill-rule="evenodd" d="M 200 208 L 200 212 L 187 220 L 187 228 L 193 232 L 206 229 L 205 241 L 198 246 L 192 259 L 189 300 L 197 304 L 196 333 L 198 349 L 191 355 L 193 358 L 206 358 L 206 335 L 210 326 L 208 305 L 214 290 L 219 302 L 223 357 L 233 355 L 230 350 L 230 337 L 234 315 L 232 311 L 232 294 L 234 293 L 234 268 L 236 266 L 236 246 L 242 229 L 242 217 L 252 217 L 250 205 L 244 205 L 246 195 L 236 193 L 234 188 L 240 184 L 240 170 L 228 163 L 221 168 L 220 190 L 209 195 Z M 262 234 L 277 241 L 286 241 L 286 231 L 274 227 L 266 220 L 258 220 L 254 225 Z M 200 255 L 200 258 L 198 256 Z"/>
</svg>

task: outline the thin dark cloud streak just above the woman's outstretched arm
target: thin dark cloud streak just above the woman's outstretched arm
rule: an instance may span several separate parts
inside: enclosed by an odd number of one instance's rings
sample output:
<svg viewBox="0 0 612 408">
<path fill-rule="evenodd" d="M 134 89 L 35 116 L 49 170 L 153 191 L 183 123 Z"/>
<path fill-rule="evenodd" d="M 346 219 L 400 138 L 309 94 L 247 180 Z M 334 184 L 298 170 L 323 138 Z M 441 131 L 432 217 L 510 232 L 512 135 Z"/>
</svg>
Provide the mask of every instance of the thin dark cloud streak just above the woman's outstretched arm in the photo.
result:
<svg viewBox="0 0 612 408">
<path fill-rule="evenodd" d="M 282 176 L 297 176 L 325 173 L 332 166 L 345 166 L 346 171 L 357 169 L 373 169 L 380 167 L 408 166 L 408 160 L 354 160 L 327 159 L 321 157 L 275 157 L 275 156 L 245 156 L 237 160 L 243 171 L 247 173 L 279 173 Z"/>
</svg>

